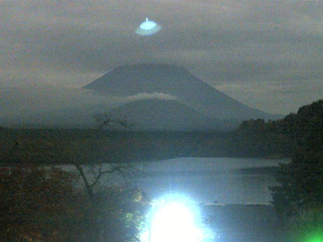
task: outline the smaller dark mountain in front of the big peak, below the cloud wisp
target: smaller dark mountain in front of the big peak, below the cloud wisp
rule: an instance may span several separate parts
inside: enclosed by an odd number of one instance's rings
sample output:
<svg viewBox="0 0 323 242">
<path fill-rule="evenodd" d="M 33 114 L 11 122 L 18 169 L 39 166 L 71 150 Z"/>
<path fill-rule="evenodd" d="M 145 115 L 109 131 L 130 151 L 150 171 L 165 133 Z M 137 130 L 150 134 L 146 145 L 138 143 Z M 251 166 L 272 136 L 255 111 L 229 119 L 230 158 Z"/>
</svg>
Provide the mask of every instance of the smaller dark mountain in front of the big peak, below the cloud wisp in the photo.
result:
<svg viewBox="0 0 323 242">
<path fill-rule="evenodd" d="M 238 128 L 239 122 L 207 117 L 176 100 L 137 100 L 110 111 L 126 116 L 136 130 L 224 130 Z"/>
</svg>

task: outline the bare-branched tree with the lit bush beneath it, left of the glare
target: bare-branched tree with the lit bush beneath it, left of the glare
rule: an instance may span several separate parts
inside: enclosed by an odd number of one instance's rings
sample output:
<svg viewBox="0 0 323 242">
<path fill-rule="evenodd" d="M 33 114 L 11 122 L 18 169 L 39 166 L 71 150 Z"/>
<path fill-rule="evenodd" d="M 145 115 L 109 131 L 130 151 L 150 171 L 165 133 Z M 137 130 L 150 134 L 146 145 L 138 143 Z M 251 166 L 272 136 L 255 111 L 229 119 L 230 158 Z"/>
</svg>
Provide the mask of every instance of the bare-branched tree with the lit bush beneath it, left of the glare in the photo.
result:
<svg viewBox="0 0 323 242">
<path fill-rule="evenodd" d="M 108 114 L 95 116 L 97 129 L 114 128 L 113 125 L 128 128 L 125 118 L 111 118 Z M 80 160 L 83 161 L 82 159 Z M 76 160 L 76 167 L 83 180 L 88 195 L 88 204 L 84 216 L 88 241 L 139 241 L 139 232 L 143 225 L 145 205 L 142 193 L 130 187 L 108 187 L 102 183 L 104 175 L 119 172 L 124 176 L 135 169 L 133 164 L 106 164 L 101 161 L 85 166 Z"/>
</svg>

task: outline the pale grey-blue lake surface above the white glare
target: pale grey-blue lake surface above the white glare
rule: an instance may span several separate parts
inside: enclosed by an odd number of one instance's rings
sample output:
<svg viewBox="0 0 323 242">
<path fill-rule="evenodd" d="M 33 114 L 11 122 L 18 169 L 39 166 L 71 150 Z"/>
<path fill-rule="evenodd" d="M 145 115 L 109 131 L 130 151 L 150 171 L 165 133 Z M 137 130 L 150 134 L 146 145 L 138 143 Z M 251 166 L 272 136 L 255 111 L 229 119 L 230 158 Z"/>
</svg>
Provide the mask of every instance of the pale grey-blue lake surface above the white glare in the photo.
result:
<svg viewBox="0 0 323 242">
<path fill-rule="evenodd" d="M 202 203 L 268 204 L 271 201 L 268 187 L 277 184 L 273 169 L 268 167 L 287 162 L 289 159 L 175 158 L 138 163 L 139 171 L 125 176 L 150 198 L 181 193 Z M 104 164 L 103 168 L 109 166 Z M 70 165 L 63 168 L 74 169 Z M 105 177 L 103 183 L 120 185 L 124 181 L 116 173 Z"/>
</svg>

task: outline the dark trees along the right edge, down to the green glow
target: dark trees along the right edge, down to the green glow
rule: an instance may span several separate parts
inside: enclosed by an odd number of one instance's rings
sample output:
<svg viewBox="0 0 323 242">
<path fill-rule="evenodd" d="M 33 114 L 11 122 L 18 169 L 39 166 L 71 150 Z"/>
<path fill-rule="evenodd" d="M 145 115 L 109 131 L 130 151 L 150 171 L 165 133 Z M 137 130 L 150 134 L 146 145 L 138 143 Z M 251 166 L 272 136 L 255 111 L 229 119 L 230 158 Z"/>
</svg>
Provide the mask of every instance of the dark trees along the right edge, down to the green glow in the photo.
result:
<svg viewBox="0 0 323 242">
<path fill-rule="evenodd" d="M 277 174 L 271 188 L 277 214 L 287 228 L 288 241 L 323 239 L 323 101 L 301 107 L 288 116 L 289 136 L 296 141 L 292 160 Z M 319 239 L 318 239 L 318 237 Z"/>
</svg>

